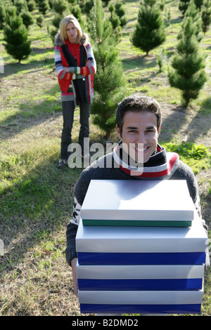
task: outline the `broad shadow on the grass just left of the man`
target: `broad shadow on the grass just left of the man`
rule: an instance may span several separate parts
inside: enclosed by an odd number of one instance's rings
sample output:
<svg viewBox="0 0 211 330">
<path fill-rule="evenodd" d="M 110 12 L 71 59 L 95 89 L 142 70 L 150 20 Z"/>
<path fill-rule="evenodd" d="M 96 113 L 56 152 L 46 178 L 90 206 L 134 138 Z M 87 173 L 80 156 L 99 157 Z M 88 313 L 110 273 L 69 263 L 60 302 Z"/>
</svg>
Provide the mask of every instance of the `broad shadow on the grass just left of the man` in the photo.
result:
<svg viewBox="0 0 211 330">
<path fill-rule="evenodd" d="M 57 156 L 55 152 L 45 157 L 1 193 L 0 237 L 6 251 L 0 258 L 2 270 L 11 269 L 8 260 L 12 260 L 15 269 L 44 234 L 52 235 L 68 225 L 74 187 L 82 169 L 57 169 Z M 30 155 L 22 157 L 27 161 Z M 65 239 L 65 230 L 63 235 Z"/>
</svg>

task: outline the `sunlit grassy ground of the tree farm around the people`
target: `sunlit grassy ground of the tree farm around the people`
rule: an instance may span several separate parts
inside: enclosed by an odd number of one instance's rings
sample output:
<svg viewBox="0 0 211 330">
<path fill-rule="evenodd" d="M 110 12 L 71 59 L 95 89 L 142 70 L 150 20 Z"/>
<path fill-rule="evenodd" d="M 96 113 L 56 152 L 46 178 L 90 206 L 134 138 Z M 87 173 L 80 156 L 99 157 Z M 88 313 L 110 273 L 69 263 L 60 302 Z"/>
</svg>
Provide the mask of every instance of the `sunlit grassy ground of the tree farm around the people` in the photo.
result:
<svg viewBox="0 0 211 330">
<path fill-rule="evenodd" d="M 167 1 L 166 6 L 172 14 L 172 23 L 166 28 L 167 40 L 146 57 L 129 41 L 139 1 L 124 1 L 129 22 L 117 49 L 127 77 L 127 92 L 154 96 L 162 105 L 160 143 L 167 150 L 178 151 L 196 173 L 203 217 L 210 225 L 210 154 L 193 157 L 193 150 L 202 152 L 210 148 L 210 81 L 198 100 L 184 110 L 179 91 L 167 82 L 167 65 L 177 44 L 181 14 L 177 1 Z M 32 53 L 21 64 L 6 54 L 0 31 L 0 57 L 4 58 L 4 74 L 0 74 L 0 238 L 5 248 L 0 259 L 2 316 L 80 315 L 71 269 L 65 261 L 65 230 L 82 169 L 59 171 L 56 167 L 63 119 L 53 70 L 53 44 L 46 28 L 51 17 L 49 11 L 41 29 L 36 25 L 30 27 Z M 203 39 L 208 72 L 210 38 L 209 30 Z M 157 57 L 161 48 L 167 51 L 168 62 L 160 73 Z M 92 121 L 90 129 L 91 143 L 106 142 Z M 78 131 L 77 109 L 72 131 L 74 142 Z M 115 132 L 110 140 L 117 141 Z M 202 316 L 211 315 L 210 290 L 207 270 Z"/>
</svg>

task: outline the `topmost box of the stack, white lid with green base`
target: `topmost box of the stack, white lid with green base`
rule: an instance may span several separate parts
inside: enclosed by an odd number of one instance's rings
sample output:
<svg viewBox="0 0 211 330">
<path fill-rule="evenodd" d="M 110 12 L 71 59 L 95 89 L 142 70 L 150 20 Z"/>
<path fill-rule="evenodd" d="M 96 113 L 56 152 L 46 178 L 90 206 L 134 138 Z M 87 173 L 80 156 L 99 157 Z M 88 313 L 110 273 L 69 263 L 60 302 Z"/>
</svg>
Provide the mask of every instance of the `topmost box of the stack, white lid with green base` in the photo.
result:
<svg viewBox="0 0 211 330">
<path fill-rule="evenodd" d="M 186 180 L 91 180 L 83 225 L 191 226 L 195 207 Z"/>
</svg>

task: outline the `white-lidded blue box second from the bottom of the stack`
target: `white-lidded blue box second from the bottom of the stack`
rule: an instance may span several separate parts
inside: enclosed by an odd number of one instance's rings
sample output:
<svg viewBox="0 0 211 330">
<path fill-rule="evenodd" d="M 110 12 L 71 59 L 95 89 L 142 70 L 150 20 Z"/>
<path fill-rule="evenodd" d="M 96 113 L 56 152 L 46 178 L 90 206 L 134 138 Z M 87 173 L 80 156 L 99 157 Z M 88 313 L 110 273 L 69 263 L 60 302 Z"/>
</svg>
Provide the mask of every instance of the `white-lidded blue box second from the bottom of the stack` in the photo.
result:
<svg viewBox="0 0 211 330">
<path fill-rule="evenodd" d="M 79 290 L 200 290 L 204 265 L 79 265 Z"/>
</svg>

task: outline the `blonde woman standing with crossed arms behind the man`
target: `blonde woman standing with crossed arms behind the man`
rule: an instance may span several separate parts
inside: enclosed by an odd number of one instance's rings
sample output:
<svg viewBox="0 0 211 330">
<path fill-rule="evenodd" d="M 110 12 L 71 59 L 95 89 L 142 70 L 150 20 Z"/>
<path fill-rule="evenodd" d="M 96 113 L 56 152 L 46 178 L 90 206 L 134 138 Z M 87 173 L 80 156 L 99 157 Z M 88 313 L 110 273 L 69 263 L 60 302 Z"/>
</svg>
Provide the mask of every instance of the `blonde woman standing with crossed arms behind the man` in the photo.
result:
<svg viewBox="0 0 211 330">
<path fill-rule="evenodd" d="M 86 33 L 82 31 L 77 19 L 68 15 L 60 21 L 60 28 L 55 37 L 56 74 L 61 90 L 63 109 L 63 131 L 61 136 L 59 168 L 63 168 L 72 143 L 71 131 L 75 105 L 80 108 L 79 145 L 82 157 L 89 157 L 85 152 L 84 138 L 89 138 L 89 113 L 94 98 L 93 80 L 96 61 Z"/>
</svg>

